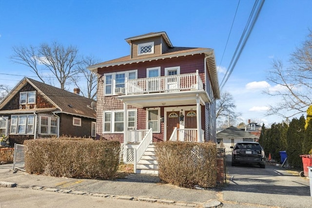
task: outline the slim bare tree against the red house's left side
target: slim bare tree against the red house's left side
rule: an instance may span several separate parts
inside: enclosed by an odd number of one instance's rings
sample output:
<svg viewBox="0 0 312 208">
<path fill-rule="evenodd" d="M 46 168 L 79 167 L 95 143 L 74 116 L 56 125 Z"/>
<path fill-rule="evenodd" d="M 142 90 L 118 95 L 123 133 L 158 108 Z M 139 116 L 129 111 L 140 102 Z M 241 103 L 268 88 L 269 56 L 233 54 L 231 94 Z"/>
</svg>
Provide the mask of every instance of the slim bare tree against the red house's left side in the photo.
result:
<svg viewBox="0 0 312 208">
<path fill-rule="evenodd" d="M 92 73 L 90 70 L 86 69 L 87 66 L 94 65 L 98 63 L 98 59 L 88 56 L 82 57 L 81 63 L 78 65 L 79 76 L 73 76 L 72 82 L 78 87 L 81 91 L 81 94 L 90 99 L 96 99 L 97 97 L 97 80 L 98 77 L 96 74 Z M 84 90 L 81 86 L 81 77 L 87 81 L 87 89 Z"/>
</svg>

